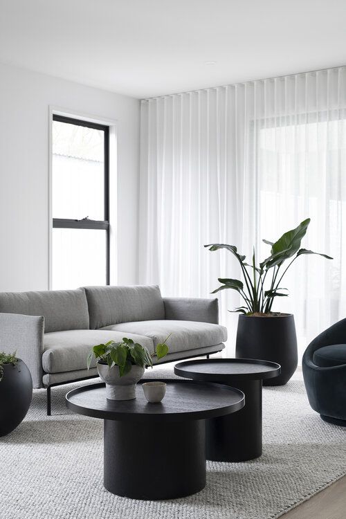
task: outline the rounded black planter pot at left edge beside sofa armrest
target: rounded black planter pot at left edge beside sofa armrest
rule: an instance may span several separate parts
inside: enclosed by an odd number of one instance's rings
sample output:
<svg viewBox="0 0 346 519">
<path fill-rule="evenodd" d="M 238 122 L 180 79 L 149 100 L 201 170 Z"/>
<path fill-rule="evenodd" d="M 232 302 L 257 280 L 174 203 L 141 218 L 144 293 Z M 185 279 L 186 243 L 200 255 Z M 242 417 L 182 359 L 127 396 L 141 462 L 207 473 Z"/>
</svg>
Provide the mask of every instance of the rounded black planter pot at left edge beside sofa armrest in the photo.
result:
<svg viewBox="0 0 346 519">
<path fill-rule="evenodd" d="M 24 419 L 33 397 L 33 381 L 28 366 L 19 358 L 17 364 L 3 366 L 0 381 L 0 436 L 8 435 Z"/>
</svg>

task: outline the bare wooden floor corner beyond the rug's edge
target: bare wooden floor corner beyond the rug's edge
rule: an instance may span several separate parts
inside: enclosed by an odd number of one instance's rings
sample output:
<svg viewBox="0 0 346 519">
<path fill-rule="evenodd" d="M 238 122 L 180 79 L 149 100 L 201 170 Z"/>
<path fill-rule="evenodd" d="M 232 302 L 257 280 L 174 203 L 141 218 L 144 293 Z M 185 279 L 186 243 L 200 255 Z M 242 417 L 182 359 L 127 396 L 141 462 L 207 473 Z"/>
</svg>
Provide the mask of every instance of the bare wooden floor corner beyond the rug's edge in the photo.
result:
<svg viewBox="0 0 346 519">
<path fill-rule="evenodd" d="M 282 519 L 345 519 L 346 476 L 314 495 Z"/>
</svg>

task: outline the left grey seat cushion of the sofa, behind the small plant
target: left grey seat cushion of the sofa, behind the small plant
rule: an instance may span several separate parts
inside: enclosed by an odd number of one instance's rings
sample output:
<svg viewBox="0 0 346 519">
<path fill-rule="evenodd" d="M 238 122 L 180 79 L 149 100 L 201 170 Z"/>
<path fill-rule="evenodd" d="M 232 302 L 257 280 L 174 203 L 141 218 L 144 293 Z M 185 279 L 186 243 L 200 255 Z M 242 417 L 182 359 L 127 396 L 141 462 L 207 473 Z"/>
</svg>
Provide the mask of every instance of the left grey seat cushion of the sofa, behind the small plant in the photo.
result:
<svg viewBox="0 0 346 519">
<path fill-rule="evenodd" d="M 66 371 L 85 370 L 86 357 L 91 348 L 97 344 L 107 343 L 109 340 L 120 342 L 123 337 L 130 338 L 154 352 L 151 338 L 124 334 L 122 331 L 110 330 L 69 330 L 53 331 L 44 335 L 44 352 L 42 367 L 46 373 L 61 373 Z M 91 367 L 95 367 L 93 359 Z"/>
</svg>

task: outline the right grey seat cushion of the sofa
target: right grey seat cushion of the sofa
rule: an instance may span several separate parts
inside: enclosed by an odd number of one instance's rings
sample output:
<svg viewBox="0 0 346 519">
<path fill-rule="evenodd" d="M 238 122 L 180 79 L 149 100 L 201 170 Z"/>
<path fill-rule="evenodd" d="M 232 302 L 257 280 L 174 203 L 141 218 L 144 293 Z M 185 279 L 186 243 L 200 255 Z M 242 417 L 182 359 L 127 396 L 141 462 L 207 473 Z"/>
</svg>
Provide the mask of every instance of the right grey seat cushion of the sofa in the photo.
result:
<svg viewBox="0 0 346 519">
<path fill-rule="evenodd" d="M 221 325 L 212 325 L 210 322 L 180 321 L 180 320 L 152 320 L 122 322 L 118 325 L 107 326 L 102 329 L 139 334 L 152 339 L 154 347 L 167 340 L 170 353 L 183 352 L 186 349 L 214 346 L 227 340 L 227 329 Z"/>
</svg>

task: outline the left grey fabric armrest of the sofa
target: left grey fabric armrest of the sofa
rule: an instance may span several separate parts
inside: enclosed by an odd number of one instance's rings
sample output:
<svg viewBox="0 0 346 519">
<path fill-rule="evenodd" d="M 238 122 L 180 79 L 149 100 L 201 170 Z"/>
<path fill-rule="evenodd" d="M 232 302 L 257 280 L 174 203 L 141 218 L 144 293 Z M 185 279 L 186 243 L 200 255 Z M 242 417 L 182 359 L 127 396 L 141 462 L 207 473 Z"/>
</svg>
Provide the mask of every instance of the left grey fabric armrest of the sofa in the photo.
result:
<svg viewBox="0 0 346 519">
<path fill-rule="evenodd" d="M 0 313 L 0 351 L 16 352 L 28 366 L 33 387 L 42 388 L 44 317 Z"/>
</svg>

